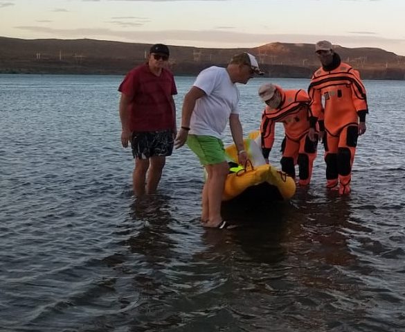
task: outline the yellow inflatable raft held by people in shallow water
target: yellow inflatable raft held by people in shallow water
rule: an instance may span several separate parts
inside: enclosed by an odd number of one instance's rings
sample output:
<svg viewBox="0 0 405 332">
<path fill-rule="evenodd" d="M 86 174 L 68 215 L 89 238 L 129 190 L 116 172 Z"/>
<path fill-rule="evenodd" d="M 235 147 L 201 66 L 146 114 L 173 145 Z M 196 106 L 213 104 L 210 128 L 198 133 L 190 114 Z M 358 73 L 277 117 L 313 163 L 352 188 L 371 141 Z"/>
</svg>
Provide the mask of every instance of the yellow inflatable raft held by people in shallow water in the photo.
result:
<svg viewBox="0 0 405 332">
<path fill-rule="evenodd" d="M 255 137 L 251 134 L 249 137 Z M 271 164 L 266 164 L 258 143 L 253 138 L 244 139 L 249 163 L 245 168 L 236 167 L 226 178 L 222 201 L 233 200 L 243 196 L 243 200 L 274 201 L 288 200 L 296 191 L 292 177 L 279 171 Z M 235 145 L 225 148 L 228 163 L 237 164 Z M 235 165 L 236 166 L 236 165 Z"/>
</svg>

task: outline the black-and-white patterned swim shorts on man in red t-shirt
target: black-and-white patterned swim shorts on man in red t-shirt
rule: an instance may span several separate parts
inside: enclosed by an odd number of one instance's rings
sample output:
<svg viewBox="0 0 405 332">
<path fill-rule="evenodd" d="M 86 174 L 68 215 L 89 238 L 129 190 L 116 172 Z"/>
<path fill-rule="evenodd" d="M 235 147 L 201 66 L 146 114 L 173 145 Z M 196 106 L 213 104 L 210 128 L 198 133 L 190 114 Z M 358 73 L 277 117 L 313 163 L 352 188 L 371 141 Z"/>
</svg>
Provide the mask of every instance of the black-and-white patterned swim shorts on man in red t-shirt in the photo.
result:
<svg viewBox="0 0 405 332">
<path fill-rule="evenodd" d="M 172 155 L 173 145 L 173 130 L 132 133 L 132 155 L 136 159 L 170 156 Z"/>
</svg>

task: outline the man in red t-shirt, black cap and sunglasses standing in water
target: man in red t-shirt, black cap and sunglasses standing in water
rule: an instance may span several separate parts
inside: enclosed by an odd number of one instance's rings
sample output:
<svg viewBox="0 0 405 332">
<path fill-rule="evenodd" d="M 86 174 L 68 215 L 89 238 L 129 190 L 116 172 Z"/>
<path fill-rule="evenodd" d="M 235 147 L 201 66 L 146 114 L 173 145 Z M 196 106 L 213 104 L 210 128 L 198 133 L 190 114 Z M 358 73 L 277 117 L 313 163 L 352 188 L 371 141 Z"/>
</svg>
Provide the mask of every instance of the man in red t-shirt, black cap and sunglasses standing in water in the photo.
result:
<svg viewBox="0 0 405 332">
<path fill-rule="evenodd" d="M 118 88 L 121 143 L 127 148 L 131 142 L 135 159 L 132 181 L 137 196 L 156 192 L 177 134 L 172 97 L 177 87 L 172 72 L 166 69 L 169 55 L 168 46 L 153 45 L 147 62 L 129 71 Z"/>
</svg>

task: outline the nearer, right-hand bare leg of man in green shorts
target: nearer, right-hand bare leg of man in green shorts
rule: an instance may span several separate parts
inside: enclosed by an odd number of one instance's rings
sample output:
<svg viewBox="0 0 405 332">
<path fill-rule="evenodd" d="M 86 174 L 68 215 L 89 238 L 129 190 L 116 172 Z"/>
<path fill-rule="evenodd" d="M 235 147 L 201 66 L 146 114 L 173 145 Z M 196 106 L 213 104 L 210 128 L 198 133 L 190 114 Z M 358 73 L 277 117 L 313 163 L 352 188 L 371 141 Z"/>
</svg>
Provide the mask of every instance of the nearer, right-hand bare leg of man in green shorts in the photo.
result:
<svg viewBox="0 0 405 332">
<path fill-rule="evenodd" d="M 222 222 L 221 202 L 226 176 L 228 175 L 228 163 L 207 165 L 208 171 L 208 210 L 209 220 L 207 227 L 217 227 Z"/>
</svg>

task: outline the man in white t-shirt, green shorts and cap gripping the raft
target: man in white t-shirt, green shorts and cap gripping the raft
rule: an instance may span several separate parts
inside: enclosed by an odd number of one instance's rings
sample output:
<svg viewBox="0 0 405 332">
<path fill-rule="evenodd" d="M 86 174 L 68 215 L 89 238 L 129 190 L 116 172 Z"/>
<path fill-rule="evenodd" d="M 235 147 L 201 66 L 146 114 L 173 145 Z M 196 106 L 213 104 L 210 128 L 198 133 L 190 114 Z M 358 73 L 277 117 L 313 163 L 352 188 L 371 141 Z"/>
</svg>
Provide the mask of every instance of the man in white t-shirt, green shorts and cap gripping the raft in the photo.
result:
<svg viewBox="0 0 405 332">
<path fill-rule="evenodd" d="M 201 216 L 205 227 L 230 228 L 230 224 L 221 217 L 222 193 L 228 175 L 222 134 L 229 119 L 238 162 L 246 164 L 237 109 L 240 95 L 235 83 L 246 84 L 255 73 L 263 74 L 255 57 L 246 52 L 239 53 L 233 56 L 226 68 L 213 66 L 201 71 L 184 97 L 181 129 L 174 146 L 180 148 L 187 141 L 188 147 L 206 168 Z"/>
</svg>

